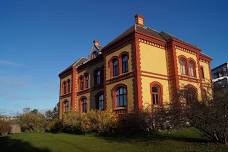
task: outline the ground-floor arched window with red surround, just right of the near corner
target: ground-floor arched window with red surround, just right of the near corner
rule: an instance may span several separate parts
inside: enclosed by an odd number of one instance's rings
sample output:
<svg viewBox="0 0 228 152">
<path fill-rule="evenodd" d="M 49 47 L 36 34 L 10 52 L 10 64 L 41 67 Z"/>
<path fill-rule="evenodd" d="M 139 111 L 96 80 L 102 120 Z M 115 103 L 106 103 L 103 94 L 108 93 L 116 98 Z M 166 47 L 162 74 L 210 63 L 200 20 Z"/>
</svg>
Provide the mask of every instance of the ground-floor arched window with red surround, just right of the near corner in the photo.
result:
<svg viewBox="0 0 228 152">
<path fill-rule="evenodd" d="M 158 82 L 152 82 L 150 87 L 152 104 L 162 105 L 162 85 Z"/>
</svg>

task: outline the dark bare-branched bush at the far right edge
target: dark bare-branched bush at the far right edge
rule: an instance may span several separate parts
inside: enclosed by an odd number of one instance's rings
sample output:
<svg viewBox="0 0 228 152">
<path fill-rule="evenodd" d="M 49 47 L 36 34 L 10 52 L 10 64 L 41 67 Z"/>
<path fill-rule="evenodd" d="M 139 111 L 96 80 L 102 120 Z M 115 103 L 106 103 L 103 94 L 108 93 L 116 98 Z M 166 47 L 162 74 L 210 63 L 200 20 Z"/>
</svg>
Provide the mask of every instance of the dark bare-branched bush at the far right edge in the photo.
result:
<svg viewBox="0 0 228 152">
<path fill-rule="evenodd" d="M 213 100 L 190 103 L 188 117 L 191 125 L 208 139 L 228 144 L 228 93 L 215 94 Z"/>
</svg>

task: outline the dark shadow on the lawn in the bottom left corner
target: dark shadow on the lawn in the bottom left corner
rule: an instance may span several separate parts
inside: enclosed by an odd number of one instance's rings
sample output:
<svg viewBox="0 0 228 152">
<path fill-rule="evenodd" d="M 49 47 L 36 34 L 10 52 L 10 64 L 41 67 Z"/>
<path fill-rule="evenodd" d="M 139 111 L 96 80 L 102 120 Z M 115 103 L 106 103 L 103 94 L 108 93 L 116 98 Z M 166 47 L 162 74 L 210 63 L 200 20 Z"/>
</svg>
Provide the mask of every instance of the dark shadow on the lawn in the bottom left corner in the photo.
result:
<svg viewBox="0 0 228 152">
<path fill-rule="evenodd" d="M 50 152 L 48 149 L 36 148 L 28 142 L 10 137 L 0 137 L 0 151 L 1 152 Z"/>
</svg>

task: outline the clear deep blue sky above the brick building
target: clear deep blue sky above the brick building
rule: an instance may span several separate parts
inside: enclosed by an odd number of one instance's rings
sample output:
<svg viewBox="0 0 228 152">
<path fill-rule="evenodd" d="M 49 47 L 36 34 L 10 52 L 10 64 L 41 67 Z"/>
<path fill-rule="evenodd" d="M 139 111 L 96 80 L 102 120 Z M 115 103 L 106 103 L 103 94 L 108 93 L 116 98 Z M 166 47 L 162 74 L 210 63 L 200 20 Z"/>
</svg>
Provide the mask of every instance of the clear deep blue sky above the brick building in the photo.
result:
<svg viewBox="0 0 228 152">
<path fill-rule="evenodd" d="M 58 73 L 92 41 L 107 44 L 134 23 L 145 24 L 200 47 L 212 67 L 228 61 L 226 0 L 1 0 L 0 114 L 47 110 L 58 101 Z"/>
</svg>

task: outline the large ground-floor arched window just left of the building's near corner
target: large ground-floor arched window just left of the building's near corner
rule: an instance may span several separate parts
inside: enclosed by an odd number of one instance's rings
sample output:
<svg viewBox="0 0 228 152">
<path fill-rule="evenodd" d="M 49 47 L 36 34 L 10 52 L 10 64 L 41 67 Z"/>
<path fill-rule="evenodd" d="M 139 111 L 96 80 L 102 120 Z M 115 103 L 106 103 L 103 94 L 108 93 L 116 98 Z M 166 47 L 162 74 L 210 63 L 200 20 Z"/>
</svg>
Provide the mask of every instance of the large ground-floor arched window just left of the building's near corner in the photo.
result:
<svg viewBox="0 0 228 152">
<path fill-rule="evenodd" d="M 115 105 L 116 107 L 127 106 L 127 89 L 125 87 L 118 87 L 115 91 Z"/>
</svg>

